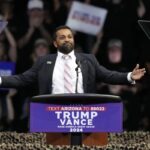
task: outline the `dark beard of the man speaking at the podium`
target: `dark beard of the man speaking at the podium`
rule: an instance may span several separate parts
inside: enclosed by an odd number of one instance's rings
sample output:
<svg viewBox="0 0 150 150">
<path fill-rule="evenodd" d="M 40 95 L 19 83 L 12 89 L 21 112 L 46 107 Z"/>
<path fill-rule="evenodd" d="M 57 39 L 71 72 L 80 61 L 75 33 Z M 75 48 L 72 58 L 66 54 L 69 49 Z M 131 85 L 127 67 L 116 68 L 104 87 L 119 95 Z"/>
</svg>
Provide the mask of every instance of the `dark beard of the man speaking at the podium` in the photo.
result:
<svg viewBox="0 0 150 150">
<path fill-rule="evenodd" d="M 74 45 L 72 43 L 63 43 L 58 47 L 58 50 L 63 54 L 68 54 L 74 49 Z"/>
</svg>

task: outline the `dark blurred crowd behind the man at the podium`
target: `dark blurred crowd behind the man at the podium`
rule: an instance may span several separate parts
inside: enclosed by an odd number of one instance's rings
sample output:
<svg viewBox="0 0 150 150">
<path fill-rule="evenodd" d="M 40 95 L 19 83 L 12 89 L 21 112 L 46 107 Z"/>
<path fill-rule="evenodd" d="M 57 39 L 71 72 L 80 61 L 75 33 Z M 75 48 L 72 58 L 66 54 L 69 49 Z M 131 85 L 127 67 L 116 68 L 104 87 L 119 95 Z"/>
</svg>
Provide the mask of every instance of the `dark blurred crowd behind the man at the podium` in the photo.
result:
<svg viewBox="0 0 150 150">
<path fill-rule="evenodd" d="M 131 71 L 137 63 L 146 75 L 135 85 L 97 83 L 97 93 L 121 96 L 124 130 L 150 130 L 150 43 L 138 20 L 150 19 L 148 0 L 79 0 L 108 10 L 97 36 L 75 31 L 76 50 L 94 54 L 110 70 Z M 16 73 L 32 66 L 38 57 L 56 53 L 54 29 L 66 23 L 73 0 L 0 0 L 0 20 L 8 25 L 0 34 L 0 61 L 14 62 Z M 29 101 L 37 86 L 0 90 L 0 131 L 28 131 Z"/>
</svg>

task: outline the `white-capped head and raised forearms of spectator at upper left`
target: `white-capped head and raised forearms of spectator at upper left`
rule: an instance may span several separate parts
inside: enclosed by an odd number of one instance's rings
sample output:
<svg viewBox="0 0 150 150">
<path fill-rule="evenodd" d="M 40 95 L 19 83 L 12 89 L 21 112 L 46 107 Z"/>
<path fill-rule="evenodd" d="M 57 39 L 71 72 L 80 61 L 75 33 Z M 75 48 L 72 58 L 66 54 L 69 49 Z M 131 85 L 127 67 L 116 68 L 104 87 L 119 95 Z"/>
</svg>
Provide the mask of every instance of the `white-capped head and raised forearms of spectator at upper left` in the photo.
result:
<svg viewBox="0 0 150 150">
<path fill-rule="evenodd" d="M 26 46 L 37 30 L 40 32 L 43 38 L 47 39 L 47 41 L 50 41 L 51 36 L 44 25 L 44 15 L 44 3 L 41 0 L 30 0 L 28 2 L 29 27 L 27 32 L 18 41 L 19 48 Z"/>
</svg>

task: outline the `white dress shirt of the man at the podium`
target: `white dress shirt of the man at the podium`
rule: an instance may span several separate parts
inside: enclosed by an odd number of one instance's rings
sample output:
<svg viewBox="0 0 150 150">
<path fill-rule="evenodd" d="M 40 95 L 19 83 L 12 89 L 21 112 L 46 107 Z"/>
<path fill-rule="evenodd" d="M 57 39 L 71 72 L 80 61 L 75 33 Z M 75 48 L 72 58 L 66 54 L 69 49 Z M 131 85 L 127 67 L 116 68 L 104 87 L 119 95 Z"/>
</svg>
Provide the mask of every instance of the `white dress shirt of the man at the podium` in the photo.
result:
<svg viewBox="0 0 150 150">
<path fill-rule="evenodd" d="M 65 93 L 64 89 L 64 59 L 63 59 L 63 53 L 58 51 L 54 71 L 53 71 L 53 77 L 52 77 L 52 94 L 61 94 Z M 70 56 L 70 59 L 68 60 L 68 64 L 71 67 L 71 76 L 72 76 L 72 86 L 73 86 L 73 93 L 75 93 L 76 90 L 76 80 L 77 80 L 77 72 L 75 71 L 75 68 L 77 68 L 76 64 L 76 56 L 74 54 L 74 51 L 70 52 L 68 54 Z M 81 69 L 78 69 L 78 93 L 84 93 L 83 90 L 83 77 L 81 73 Z"/>
</svg>

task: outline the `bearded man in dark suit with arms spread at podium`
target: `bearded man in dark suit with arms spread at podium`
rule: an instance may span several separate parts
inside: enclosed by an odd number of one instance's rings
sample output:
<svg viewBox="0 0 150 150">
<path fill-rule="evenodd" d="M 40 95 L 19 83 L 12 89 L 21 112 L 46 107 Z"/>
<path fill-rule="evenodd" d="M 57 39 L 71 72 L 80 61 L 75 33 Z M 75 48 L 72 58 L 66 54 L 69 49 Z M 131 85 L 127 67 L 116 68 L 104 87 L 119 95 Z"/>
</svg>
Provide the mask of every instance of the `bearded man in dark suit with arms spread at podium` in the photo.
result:
<svg viewBox="0 0 150 150">
<path fill-rule="evenodd" d="M 38 83 L 39 94 L 95 93 L 96 81 L 109 84 L 135 83 L 145 74 L 137 64 L 132 72 L 110 71 L 101 66 L 94 55 L 77 53 L 71 28 L 56 28 L 53 44 L 57 54 L 41 57 L 19 75 L 0 77 L 1 87 L 26 87 Z"/>
</svg>

